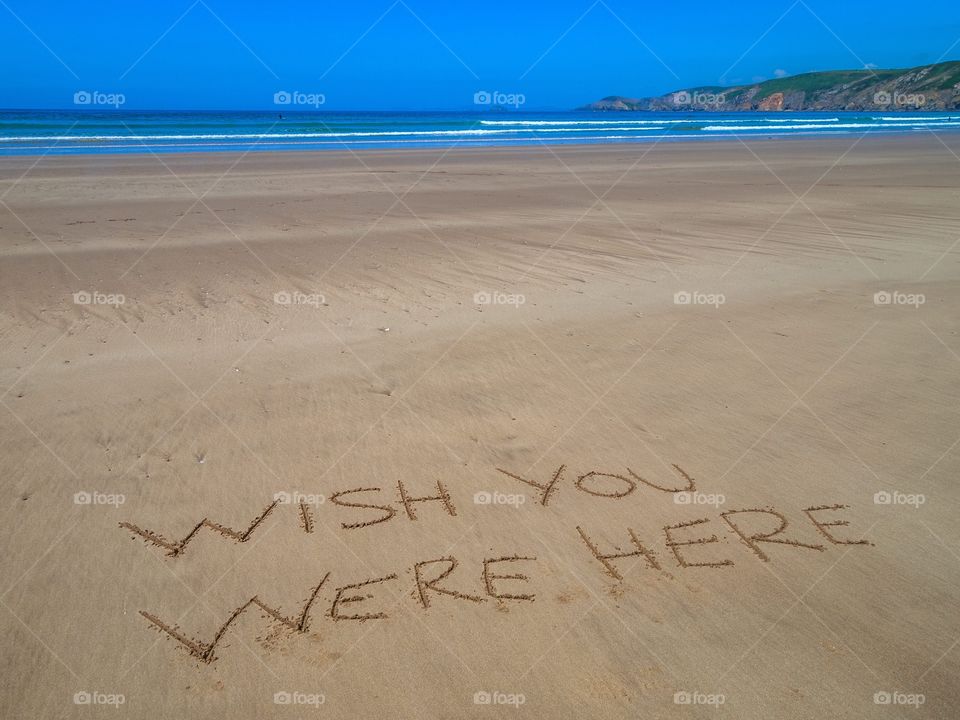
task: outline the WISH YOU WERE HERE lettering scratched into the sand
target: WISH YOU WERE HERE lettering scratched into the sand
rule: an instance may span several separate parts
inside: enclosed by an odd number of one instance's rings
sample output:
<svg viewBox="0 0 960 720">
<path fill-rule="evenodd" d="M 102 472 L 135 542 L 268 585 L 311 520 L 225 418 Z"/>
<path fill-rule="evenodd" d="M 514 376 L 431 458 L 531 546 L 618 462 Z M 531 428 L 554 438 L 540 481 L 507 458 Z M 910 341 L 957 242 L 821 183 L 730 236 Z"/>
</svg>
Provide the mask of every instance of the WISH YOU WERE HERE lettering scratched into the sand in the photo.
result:
<svg viewBox="0 0 960 720">
<path fill-rule="evenodd" d="M 561 465 L 555 473 L 539 479 L 502 468 L 496 470 L 501 477 L 520 483 L 514 485 L 515 488 L 532 490 L 533 502 L 523 508 L 523 513 L 551 512 L 551 502 L 555 502 L 565 486 L 571 487 L 568 492 L 577 493 L 578 497 L 601 499 L 595 502 L 622 502 L 641 488 L 669 494 L 697 492 L 696 480 L 678 465 L 673 466 L 679 481 L 675 486 L 655 483 L 629 468 L 622 472 L 590 470 L 575 474 Z M 330 512 L 337 513 L 336 521 L 344 532 L 385 532 L 395 522 L 416 523 L 427 519 L 442 522 L 444 517 L 457 517 L 457 501 L 443 481 L 418 491 L 412 485 L 410 481 L 397 480 L 396 486 L 389 489 L 339 489 L 329 496 L 333 508 Z M 315 499 L 322 496 L 310 497 L 314 502 L 294 503 L 299 526 L 305 533 L 314 532 L 314 512 L 319 504 Z M 205 529 L 233 542 L 247 542 L 264 520 L 285 504 L 290 503 L 274 499 L 242 529 L 204 517 L 180 539 L 167 538 L 131 522 L 122 522 L 120 526 L 176 558 L 182 556 Z M 573 522 L 569 537 L 599 573 L 620 583 L 627 572 L 698 572 L 704 568 L 729 569 L 743 562 L 770 562 L 770 549 L 777 546 L 796 552 L 822 553 L 837 545 L 872 545 L 857 537 L 852 529 L 844 529 L 850 524 L 843 515 L 847 508 L 836 503 L 813 504 L 791 511 L 792 518 L 788 518 L 787 513 L 774 507 L 737 507 L 667 523 L 655 536 L 649 531 L 645 536 L 630 526 L 588 527 L 587 523 Z M 798 522 L 792 524 L 792 520 Z M 726 531 L 724 537 L 717 534 L 719 531 Z M 711 547 L 715 545 L 718 547 Z M 737 551 L 733 545 L 742 549 Z M 465 569 L 465 563 L 452 554 L 425 552 L 422 559 L 407 567 L 374 577 L 368 573 L 367 576 L 334 578 L 332 572 L 326 572 L 315 579 L 296 614 L 285 615 L 259 595 L 253 595 L 233 610 L 207 641 L 189 637 L 176 625 L 147 610 L 141 610 L 140 614 L 156 629 L 177 640 L 191 655 L 203 662 L 212 662 L 227 630 L 248 609 L 259 610 L 290 631 L 305 633 L 310 629 L 313 616 L 320 615 L 315 608 L 321 602 L 326 608 L 322 615 L 330 622 L 387 619 L 389 604 L 384 600 L 396 597 L 404 584 L 411 601 L 425 612 L 440 602 L 487 603 L 499 607 L 506 603 L 529 604 L 537 600 L 538 563 L 537 554 L 529 548 L 484 557 L 476 561 L 473 570 Z M 636 566 L 640 569 L 634 570 Z"/>
</svg>

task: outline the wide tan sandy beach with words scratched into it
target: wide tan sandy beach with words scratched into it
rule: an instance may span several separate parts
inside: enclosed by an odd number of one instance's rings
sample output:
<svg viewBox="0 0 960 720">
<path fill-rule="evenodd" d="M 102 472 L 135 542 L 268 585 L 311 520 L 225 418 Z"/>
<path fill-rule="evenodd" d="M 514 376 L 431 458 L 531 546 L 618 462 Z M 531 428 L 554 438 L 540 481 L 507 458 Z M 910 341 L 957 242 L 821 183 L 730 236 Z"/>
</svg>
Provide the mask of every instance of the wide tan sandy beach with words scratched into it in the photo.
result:
<svg viewBox="0 0 960 720">
<path fill-rule="evenodd" d="M 0 716 L 955 717 L 953 152 L 2 160 Z"/>
</svg>

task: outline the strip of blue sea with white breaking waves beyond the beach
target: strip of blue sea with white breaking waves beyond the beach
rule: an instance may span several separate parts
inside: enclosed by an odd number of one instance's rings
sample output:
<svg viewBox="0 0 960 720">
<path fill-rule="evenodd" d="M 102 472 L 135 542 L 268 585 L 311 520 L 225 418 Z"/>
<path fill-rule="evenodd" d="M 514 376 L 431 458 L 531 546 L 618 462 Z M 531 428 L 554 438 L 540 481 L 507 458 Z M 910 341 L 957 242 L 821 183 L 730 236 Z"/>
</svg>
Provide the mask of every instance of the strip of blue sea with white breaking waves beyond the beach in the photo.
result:
<svg viewBox="0 0 960 720">
<path fill-rule="evenodd" d="M 0 155 L 595 144 L 960 130 L 960 112 L 0 111 Z"/>
</svg>

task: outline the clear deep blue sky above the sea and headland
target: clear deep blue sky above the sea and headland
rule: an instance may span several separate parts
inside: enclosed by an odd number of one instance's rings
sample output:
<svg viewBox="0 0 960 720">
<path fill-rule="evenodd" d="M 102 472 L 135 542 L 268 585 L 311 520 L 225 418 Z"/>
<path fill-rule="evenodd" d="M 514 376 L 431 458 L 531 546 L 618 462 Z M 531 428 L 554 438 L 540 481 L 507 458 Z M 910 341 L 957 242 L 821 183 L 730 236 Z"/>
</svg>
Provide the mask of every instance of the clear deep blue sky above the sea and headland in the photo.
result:
<svg viewBox="0 0 960 720">
<path fill-rule="evenodd" d="M 956 0 L 0 0 L 0 106 L 526 109 L 811 70 L 960 58 Z"/>
</svg>

